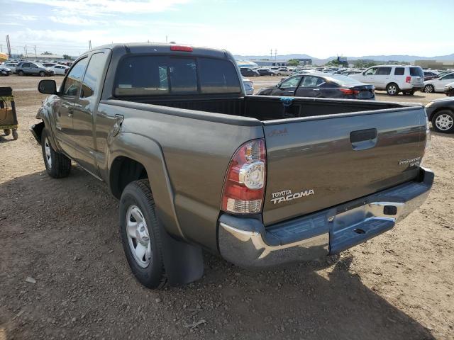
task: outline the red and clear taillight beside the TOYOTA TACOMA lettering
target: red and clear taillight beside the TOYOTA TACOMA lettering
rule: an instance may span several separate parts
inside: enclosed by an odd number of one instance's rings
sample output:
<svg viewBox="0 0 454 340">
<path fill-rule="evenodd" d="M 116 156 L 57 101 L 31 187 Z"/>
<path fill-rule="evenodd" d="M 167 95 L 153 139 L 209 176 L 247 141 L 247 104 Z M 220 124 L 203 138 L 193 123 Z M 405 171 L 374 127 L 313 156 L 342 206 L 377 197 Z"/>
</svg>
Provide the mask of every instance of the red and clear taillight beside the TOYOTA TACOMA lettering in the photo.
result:
<svg viewBox="0 0 454 340">
<path fill-rule="evenodd" d="M 261 212 L 265 181 L 265 140 L 261 138 L 245 142 L 228 164 L 221 210 L 235 214 Z"/>
</svg>

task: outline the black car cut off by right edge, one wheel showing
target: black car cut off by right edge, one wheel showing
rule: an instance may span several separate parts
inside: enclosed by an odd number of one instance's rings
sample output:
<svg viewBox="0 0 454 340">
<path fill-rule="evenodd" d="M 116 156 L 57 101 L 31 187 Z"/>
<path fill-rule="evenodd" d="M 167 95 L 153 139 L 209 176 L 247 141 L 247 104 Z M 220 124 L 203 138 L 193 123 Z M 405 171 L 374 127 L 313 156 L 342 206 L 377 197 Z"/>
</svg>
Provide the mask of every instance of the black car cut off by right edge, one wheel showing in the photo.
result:
<svg viewBox="0 0 454 340">
<path fill-rule="evenodd" d="M 426 105 L 426 113 L 433 130 L 454 132 L 454 98 L 438 98 Z"/>
</svg>

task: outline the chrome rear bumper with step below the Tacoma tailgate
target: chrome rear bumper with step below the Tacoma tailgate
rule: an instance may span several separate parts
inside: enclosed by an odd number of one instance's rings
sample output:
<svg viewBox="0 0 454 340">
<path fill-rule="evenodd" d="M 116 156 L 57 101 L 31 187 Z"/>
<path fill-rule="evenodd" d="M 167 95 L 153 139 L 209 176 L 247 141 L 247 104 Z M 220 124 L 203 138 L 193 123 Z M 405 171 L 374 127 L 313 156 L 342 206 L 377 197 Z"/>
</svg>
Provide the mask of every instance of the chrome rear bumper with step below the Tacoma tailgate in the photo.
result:
<svg viewBox="0 0 454 340">
<path fill-rule="evenodd" d="M 337 254 L 371 239 L 404 219 L 426 200 L 433 172 L 421 168 L 419 181 L 403 183 L 358 200 L 265 229 L 253 218 L 221 215 L 221 256 L 238 266 L 267 267 Z"/>
</svg>

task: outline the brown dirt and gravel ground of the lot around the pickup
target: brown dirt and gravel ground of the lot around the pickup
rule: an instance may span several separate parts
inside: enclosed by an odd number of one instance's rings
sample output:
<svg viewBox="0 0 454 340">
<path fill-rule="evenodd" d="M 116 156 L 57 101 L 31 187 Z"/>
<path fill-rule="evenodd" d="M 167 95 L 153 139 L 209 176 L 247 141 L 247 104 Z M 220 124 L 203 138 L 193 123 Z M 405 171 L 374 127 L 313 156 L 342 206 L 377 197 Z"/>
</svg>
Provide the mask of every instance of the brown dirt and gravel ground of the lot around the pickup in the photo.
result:
<svg viewBox="0 0 454 340">
<path fill-rule="evenodd" d="M 426 203 L 338 262 L 245 271 L 205 254 L 201 280 L 153 291 L 129 271 L 106 186 L 75 165 L 45 173 L 28 132 L 39 80 L 0 78 L 20 123 L 0 136 L 0 340 L 454 339 L 454 135 L 432 133 Z"/>
</svg>

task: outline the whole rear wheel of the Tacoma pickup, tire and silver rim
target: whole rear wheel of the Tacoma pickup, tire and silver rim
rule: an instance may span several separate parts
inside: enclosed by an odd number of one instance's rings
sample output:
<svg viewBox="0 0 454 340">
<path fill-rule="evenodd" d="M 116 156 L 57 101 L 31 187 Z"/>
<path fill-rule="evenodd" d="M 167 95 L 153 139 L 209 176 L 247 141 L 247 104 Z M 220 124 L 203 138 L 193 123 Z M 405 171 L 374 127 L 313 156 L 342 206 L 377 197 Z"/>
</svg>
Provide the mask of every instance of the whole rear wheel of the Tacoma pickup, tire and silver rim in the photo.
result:
<svg viewBox="0 0 454 340">
<path fill-rule="evenodd" d="M 129 183 L 120 200 L 121 242 L 135 278 L 152 289 L 167 283 L 158 223 L 148 180 Z"/>
</svg>

